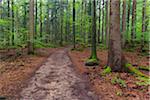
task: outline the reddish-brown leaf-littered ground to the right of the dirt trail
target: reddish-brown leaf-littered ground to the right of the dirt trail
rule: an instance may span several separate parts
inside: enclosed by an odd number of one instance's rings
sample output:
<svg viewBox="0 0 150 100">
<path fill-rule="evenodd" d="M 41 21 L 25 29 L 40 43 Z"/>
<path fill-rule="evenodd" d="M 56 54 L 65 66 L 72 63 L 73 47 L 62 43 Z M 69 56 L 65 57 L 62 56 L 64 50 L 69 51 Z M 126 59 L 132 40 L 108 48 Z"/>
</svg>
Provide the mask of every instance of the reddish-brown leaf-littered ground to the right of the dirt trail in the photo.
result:
<svg viewBox="0 0 150 100">
<path fill-rule="evenodd" d="M 90 50 L 70 51 L 70 57 L 81 74 L 87 74 L 94 91 L 101 95 L 102 100 L 149 100 L 150 81 L 148 78 L 137 77 L 131 73 L 115 73 L 106 65 L 107 50 L 98 50 L 100 65 L 94 67 L 85 66 L 86 59 L 90 56 Z M 149 57 L 140 55 L 138 52 L 124 52 L 126 59 L 135 68 L 149 66 Z M 149 69 L 149 67 L 148 67 Z M 149 74 L 147 70 L 140 70 Z"/>
</svg>

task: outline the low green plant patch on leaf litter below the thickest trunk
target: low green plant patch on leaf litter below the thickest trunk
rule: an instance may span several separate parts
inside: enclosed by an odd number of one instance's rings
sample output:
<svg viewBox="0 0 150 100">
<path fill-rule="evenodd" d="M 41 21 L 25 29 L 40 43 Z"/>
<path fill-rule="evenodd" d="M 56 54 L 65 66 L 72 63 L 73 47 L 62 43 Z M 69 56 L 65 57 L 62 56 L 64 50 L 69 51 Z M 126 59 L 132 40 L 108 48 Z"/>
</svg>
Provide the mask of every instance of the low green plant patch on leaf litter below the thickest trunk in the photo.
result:
<svg viewBox="0 0 150 100">
<path fill-rule="evenodd" d="M 115 76 L 114 78 L 111 79 L 111 83 L 116 85 L 118 84 L 120 87 L 126 88 L 126 82 L 124 80 L 122 80 L 121 78 L 119 78 L 118 76 Z"/>
</svg>

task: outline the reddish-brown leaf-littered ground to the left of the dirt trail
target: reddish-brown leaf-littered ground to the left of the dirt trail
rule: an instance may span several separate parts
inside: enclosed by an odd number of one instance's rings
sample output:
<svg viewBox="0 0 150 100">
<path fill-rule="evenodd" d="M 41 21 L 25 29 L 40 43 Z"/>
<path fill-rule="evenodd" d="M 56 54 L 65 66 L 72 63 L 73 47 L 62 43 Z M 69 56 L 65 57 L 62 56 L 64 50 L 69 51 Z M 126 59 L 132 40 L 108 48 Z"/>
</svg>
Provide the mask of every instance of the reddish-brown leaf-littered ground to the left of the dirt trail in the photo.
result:
<svg viewBox="0 0 150 100">
<path fill-rule="evenodd" d="M 16 49 L 10 50 L 10 52 L 3 50 L 5 53 L 0 55 L 3 58 L 7 57 L 0 61 L 0 97 L 16 97 L 20 89 L 24 87 L 24 83 L 55 50 L 37 49 L 35 55 L 27 55 L 27 51 L 24 50 L 24 54 L 18 56 L 16 56 Z M 16 57 L 14 58 L 14 56 Z"/>
</svg>

